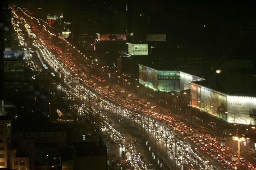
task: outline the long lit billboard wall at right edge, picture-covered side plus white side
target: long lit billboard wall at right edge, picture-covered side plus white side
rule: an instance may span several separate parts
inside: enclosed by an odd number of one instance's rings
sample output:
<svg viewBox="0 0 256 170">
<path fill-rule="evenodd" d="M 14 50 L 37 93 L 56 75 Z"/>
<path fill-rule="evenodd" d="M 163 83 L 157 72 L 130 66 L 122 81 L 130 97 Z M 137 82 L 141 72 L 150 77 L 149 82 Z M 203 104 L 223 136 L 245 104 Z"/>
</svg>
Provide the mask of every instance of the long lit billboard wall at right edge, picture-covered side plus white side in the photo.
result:
<svg viewBox="0 0 256 170">
<path fill-rule="evenodd" d="M 256 98 L 229 96 L 218 91 L 191 83 L 191 103 L 193 107 L 222 117 L 233 124 L 254 124 Z"/>
</svg>

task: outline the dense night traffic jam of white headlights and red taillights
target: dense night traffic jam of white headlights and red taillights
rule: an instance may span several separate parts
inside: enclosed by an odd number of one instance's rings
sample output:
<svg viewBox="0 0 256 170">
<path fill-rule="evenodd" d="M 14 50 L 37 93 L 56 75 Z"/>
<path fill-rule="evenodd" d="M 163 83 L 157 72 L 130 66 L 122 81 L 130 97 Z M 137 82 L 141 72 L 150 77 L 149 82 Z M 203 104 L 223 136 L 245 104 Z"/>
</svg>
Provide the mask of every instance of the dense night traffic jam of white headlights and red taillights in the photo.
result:
<svg viewBox="0 0 256 170">
<path fill-rule="evenodd" d="M 18 19 L 18 15 L 15 14 L 15 16 Z M 31 19 L 35 18 L 31 17 Z M 108 84 L 108 86 L 104 87 L 104 78 L 96 75 L 89 76 L 75 63 L 76 61 L 73 60 L 72 55 L 73 50 L 76 51 L 76 54 L 85 57 L 75 46 L 72 46 L 62 38 L 59 38 L 61 42 L 59 46 L 52 45 L 51 41 L 44 40 L 41 32 L 38 35 L 32 33 L 37 32 L 36 30 L 39 29 L 36 27 L 36 22 L 27 23 L 23 18 L 22 20 L 23 24 L 26 24 L 26 30 L 31 35 L 31 39 L 35 39 L 33 45 L 43 54 L 44 61 L 53 67 L 56 73 L 60 73 L 59 75 L 64 82 L 69 87 L 72 87 L 73 92 L 63 88 L 64 92 L 72 94 L 72 96 L 81 97 L 84 100 L 88 99 L 89 95 L 91 99 L 96 100 L 93 103 L 93 107 L 95 107 L 97 113 L 100 113 L 99 110 L 103 109 L 133 121 L 139 128 L 144 129 L 144 132 L 148 136 L 150 135 L 158 146 L 168 148 L 166 150 L 168 156 L 174 160 L 178 167 L 184 169 L 237 169 L 239 166 L 240 169 L 256 169 L 251 163 L 246 162 L 244 158 L 238 158 L 238 153 L 233 151 L 232 148 L 226 147 L 225 139 L 211 137 L 207 128 L 199 127 L 198 129 L 193 129 L 172 116 L 164 115 L 161 109 L 156 109 L 158 108 L 157 105 L 150 105 L 147 101 L 141 101 L 139 97 L 134 97 L 134 94 L 125 95 L 127 93 L 119 91 L 115 84 Z M 37 21 L 38 24 L 41 22 Z M 19 30 L 20 26 L 17 25 L 17 22 L 13 23 L 16 29 Z M 44 29 L 46 30 L 45 26 Z M 46 32 L 49 31 L 46 30 Z M 49 33 L 48 36 L 55 35 Z M 20 39 L 21 37 L 22 35 L 20 35 Z M 64 50 L 60 46 L 64 46 L 66 49 Z M 86 57 L 86 59 L 91 62 L 90 65 L 88 64 L 89 66 L 92 66 L 93 62 L 95 62 L 90 58 Z M 78 75 L 79 83 L 74 85 L 75 77 Z M 97 96 L 102 97 L 97 99 Z M 80 108 L 82 110 L 85 107 Z M 81 111 L 82 113 L 84 112 Z M 128 142 L 128 146 L 123 145 L 123 141 L 125 141 L 123 133 L 106 121 L 102 125 L 102 131 L 109 134 L 109 143 L 120 142 L 120 147 L 123 148 L 122 159 L 119 160 L 120 165 L 127 165 L 137 169 L 152 168 L 152 164 L 146 164 L 142 153 L 136 150 L 134 143 L 138 143 L 137 139 Z M 240 159 L 240 164 L 238 164 L 238 159 Z"/>
</svg>

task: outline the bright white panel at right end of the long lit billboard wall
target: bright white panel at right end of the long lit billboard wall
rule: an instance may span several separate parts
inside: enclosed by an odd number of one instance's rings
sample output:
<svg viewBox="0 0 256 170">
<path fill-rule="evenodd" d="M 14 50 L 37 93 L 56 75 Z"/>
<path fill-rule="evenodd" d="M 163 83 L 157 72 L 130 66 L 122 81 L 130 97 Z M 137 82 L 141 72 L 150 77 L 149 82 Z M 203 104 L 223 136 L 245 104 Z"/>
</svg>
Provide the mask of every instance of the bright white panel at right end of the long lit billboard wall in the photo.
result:
<svg viewBox="0 0 256 170">
<path fill-rule="evenodd" d="M 245 96 L 227 96 L 228 122 L 251 124 L 256 117 L 256 98 Z"/>
</svg>

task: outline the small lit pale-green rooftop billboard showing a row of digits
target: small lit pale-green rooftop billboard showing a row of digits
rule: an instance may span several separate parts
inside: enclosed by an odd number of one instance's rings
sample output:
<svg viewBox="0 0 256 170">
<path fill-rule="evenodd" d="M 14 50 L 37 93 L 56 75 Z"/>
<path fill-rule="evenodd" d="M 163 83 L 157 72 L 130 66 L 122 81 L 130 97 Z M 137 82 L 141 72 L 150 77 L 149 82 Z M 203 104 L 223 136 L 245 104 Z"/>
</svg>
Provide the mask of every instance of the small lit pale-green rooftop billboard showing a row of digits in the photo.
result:
<svg viewBox="0 0 256 170">
<path fill-rule="evenodd" d="M 128 53 L 134 56 L 147 56 L 148 44 L 128 44 Z"/>
</svg>

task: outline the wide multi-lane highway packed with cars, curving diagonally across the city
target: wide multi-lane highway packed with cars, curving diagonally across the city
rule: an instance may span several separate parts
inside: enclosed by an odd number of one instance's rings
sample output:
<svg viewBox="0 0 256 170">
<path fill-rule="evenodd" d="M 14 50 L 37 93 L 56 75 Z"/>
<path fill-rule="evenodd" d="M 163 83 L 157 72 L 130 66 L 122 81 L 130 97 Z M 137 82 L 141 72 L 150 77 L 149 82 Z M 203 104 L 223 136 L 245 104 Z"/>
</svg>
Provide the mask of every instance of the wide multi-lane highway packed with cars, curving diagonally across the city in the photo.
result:
<svg viewBox="0 0 256 170">
<path fill-rule="evenodd" d="M 187 122 L 171 117 L 167 111 L 160 111 L 162 109 L 151 109 L 150 107 L 154 107 L 153 104 L 145 104 L 139 99 L 135 100 L 136 95 L 127 94 L 125 89 L 106 84 L 104 78 L 89 74 L 88 70 L 93 67 L 102 70 L 97 60 L 86 57 L 67 40 L 51 33 L 49 30 L 52 28 L 44 25 L 42 20 L 25 14 L 20 8 L 18 10 L 14 10 L 16 19 L 12 20 L 16 32 L 20 34 L 19 29 L 26 28 L 32 45 L 38 51 L 39 56 L 42 56 L 39 68 L 53 70 L 52 76 L 63 80 L 63 84 L 56 84 L 56 86 L 65 92 L 67 100 L 76 101 L 71 107 L 83 116 L 86 112 L 86 105 L 90 105 L 95 112 L 107 117 L 104 118 L 105 121 L 113 122 L 114 129 L 109 126 L 108 131 L 102 130 L 105 134 L 113 130 L 113 134 L 110 133 L 112 138 L 110 157 L 114 154 L 121 158 L 125 147 L 128 147 L 132 140 L 144 135 L 151 143 L 151 147 L 154 150 L 157 149 L 156 152 L 162 160 L 165 160 L 170 169 L 182 169 L 187 164 L 195 169 L 237 168 L 237 162 L 230 158 L 235 153 L 221 146 L 217 138 L 205 138 L 205 134 L 195 133 L 195 129 L 193 130 Z M 24 45 L 22 42 L 24 43 L 25 40 L 22 34 L 18 37 L 20 44 Z M 80 69 L 81 61 L 85 62 L 87 67 Z M 115 94 L 116 91 L 113 89 L 109 90 L 109 86 L 115 90 L 118 89 L 119 94 Z M 100 100 L 97 99 L 98 95 L 102 96 Z M 122 119 L 123 122 L 129 124 L 118 122 Z M 117 137 L 114 133 L 120 132 L 125 136 L 125 139 L 120 139 L 125 147 L 119 147 L 119 143 L 112 143 L 119 141 L 115 139 Z M 191 140 L 193 137 L 195 140 Z M 138 148 L 144 150 L 140 144 Z M 144 158 L 150 159 L 146 155 Z M 130 158 L 130 162 L 135 169 L 138 168 L 138 162 L 134 162 L 134 158 Z M 241 165 L 240 169 L 247 169 L 246 162 Z"/>
</svg>

